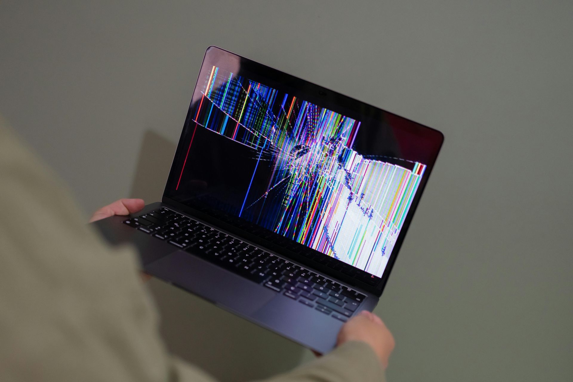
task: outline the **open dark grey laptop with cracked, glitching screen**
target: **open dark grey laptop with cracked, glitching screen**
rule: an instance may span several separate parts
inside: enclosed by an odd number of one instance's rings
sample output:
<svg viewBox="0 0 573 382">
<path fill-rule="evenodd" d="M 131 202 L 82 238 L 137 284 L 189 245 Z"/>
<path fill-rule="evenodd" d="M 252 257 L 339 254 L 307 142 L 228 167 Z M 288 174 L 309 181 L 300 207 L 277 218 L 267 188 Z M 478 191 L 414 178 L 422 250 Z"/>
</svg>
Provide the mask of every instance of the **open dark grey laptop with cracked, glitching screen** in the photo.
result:
<svg viewBox="0 0 573 382">
<path fill-rule="evenodd" d="M 210 46 L 160 202 L 93 224 L 316 352 L 378 303 L 444 136 Z"/>
</svg>

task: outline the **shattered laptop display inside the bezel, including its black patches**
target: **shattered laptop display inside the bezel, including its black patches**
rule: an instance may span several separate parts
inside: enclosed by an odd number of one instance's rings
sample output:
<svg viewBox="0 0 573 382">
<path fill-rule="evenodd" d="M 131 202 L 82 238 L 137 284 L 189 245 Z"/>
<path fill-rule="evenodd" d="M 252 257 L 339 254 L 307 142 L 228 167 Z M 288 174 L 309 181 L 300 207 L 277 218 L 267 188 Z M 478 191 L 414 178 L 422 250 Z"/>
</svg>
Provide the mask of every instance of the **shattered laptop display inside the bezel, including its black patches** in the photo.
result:
<svg viewBox="0 0 573 382">
<path fill-rule="evenodd" d="M 423 155 L 408 155 L 393 128 L 218 66 L 202 70 L 194 100 L 172 198 L 382 275 L 426 171 Z"/>
</svg>

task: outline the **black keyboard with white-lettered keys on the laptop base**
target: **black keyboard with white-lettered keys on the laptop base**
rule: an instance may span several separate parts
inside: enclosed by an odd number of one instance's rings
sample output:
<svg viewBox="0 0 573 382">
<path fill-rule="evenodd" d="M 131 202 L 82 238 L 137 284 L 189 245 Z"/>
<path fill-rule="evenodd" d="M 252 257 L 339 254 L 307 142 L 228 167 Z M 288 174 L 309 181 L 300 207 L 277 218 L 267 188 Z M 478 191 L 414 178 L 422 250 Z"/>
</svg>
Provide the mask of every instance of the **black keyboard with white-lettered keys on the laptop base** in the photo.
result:
<svg viewBox="0 0 573 382">
<path fill-rule="evenodd" d="M 336 281 L 165 207 L 123 223 L 340 321 L 351 317 L 366 298 Z"/>
</svg>

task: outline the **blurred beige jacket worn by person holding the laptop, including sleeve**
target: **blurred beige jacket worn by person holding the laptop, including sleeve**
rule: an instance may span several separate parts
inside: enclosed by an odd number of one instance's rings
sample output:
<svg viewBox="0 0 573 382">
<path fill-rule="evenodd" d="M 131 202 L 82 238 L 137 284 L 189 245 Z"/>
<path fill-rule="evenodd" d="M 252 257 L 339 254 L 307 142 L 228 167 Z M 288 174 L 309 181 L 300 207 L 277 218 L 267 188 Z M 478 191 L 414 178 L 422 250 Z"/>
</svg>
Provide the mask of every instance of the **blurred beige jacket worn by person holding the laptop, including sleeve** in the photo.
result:
<svg viewBox="0 0 573 382">
<path fill-rule="evenodd" d="M 106 245 L 0 120 L 0 381 L 213 381 L 170 356 L 131 247 Z M 382 381 L 348 342 L 269 381 Z"/>
</svg>

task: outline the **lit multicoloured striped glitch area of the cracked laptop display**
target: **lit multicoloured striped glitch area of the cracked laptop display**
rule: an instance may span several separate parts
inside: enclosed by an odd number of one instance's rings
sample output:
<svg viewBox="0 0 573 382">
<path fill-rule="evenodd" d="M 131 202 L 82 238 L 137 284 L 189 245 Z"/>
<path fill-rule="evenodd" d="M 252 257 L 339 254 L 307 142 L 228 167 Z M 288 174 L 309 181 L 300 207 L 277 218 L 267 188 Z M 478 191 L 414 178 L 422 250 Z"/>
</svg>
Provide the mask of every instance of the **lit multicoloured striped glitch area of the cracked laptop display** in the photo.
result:
<svg viewBox="0 0 573 382">
<path fill-rule="evenodd" d="M 202 93 L 195 128 L 254 152 L 242 206 L 228 212 L 380 277 L 426 166 L 362 156 L 359 121 L 215 66 Z M 261 162 L 272 176 L 256 194 Z"/>
</svg>

